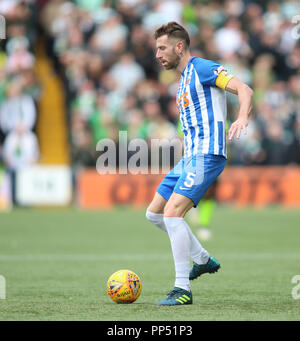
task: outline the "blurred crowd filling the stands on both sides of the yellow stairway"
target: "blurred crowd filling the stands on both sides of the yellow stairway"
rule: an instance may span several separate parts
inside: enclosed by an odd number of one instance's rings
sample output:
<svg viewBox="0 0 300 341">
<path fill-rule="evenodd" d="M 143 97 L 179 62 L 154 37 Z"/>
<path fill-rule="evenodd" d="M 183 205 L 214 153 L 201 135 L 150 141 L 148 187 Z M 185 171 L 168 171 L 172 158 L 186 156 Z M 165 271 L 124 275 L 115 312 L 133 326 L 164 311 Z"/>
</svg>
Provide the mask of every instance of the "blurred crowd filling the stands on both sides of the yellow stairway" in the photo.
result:
<svg viewBox="0 0 300 341">
<path fill-rule="evenodd" d="M 298 0 L 37 2 L 47 52 L 66 89 L 74 165 L 94 167 L 97 142 L 118 142 L 120 130 L 129 140 L 149 143 L 178 136 L 178 75 L 158 65 L 153 39 L 154 30 L 168 21 L 187 28 L 192 55 L 218 61 L 254 89 L 248 134 L 230 144 L 229 162 L 300 164 L 300 29 L 293 19 L 300 15 Z M 16 22 L 0 58 L 4 155 L 7 134 L 34 134 L 35 3 L 0 0 L 0 14 Z M 237 96 L 227 98 L 230 124 L 239 105 Z M 5 112 L 12 115 L 13 107 L 28 120 L 21 129 L 5 123 Z M 18 121 L 17 114 L 11 117 Z"/>
</svg>

